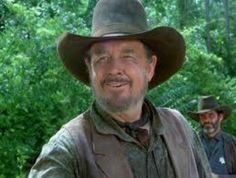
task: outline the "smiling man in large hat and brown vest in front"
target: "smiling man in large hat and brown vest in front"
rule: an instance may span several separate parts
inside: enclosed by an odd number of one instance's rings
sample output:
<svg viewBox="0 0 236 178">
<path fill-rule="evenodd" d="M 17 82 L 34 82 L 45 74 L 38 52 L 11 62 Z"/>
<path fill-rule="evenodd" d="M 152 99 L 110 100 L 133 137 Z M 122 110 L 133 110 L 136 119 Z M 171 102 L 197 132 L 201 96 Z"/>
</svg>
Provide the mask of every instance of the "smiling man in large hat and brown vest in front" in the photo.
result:
<svg viewBox="0 0 236 178">
<path fill-rule="evenodd" d="M 91 87 L 94 102 L 43 147 L 29 177 L 211 177 L 185 118 L 145 98 L 182 66 L 179 32 L 148 30 L 138 0 L 99 0 L 92 36 L 65 33 L 58 52 L 69 72 Z"/>
</svg>

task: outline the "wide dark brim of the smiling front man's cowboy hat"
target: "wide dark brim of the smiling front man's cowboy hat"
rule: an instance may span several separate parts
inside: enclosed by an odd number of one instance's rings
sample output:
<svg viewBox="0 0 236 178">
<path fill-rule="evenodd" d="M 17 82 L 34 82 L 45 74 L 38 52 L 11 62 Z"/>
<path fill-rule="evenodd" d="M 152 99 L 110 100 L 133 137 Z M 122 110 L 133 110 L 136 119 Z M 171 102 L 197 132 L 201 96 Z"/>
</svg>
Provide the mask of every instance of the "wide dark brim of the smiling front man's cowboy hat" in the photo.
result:
<svg viewBox="0 0 236 178">
<path fill-rule="evenodd" d="M 106 40 L 140 40 L 158 57 L 158 65 L 149 89 L 156 87 L 176 73 L 184 62 L 185 42 L 180 33 L 171 27 L 124 36 L 84 37 L 64 33 L 58 42 L 58 53 L 69 72 L 85 85 L 90 85 L 84 58 L 90 46 Z"/>
</svg>

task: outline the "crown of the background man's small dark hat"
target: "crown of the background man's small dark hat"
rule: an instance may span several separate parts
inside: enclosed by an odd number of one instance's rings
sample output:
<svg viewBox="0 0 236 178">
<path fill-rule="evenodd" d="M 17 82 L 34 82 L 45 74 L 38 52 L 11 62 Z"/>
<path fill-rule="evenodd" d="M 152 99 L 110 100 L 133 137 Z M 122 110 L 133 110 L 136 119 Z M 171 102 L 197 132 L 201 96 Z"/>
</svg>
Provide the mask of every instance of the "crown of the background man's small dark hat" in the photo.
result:
<svg viewBox="0 0 236 178">
<path fill-rule="evenodd" d="M 214 96 L 203 96 L 199 98 L 198 111 L 207 109 L 211 110 L 217 107 L 219 107 L 219 103 Z"/>
</svg>

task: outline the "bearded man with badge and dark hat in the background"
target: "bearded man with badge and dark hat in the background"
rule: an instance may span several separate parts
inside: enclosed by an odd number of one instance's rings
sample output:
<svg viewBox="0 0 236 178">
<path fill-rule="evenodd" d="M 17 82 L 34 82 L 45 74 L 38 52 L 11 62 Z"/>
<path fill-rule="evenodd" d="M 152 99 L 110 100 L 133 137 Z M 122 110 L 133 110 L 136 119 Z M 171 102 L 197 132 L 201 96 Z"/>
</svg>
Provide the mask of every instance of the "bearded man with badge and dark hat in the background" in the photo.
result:
<svg viewBox="0 0 236 178">
<path fill-rule="evenodd" d="M 222 122 L 230 113 L 231 108 L 219 105 L 214 96 L 199 97 L 198 111 L 189 112 L 202 127 L 200 138 L 214 178 L 236 177 L 236 139 L 221 130 Z"/>
</svg>

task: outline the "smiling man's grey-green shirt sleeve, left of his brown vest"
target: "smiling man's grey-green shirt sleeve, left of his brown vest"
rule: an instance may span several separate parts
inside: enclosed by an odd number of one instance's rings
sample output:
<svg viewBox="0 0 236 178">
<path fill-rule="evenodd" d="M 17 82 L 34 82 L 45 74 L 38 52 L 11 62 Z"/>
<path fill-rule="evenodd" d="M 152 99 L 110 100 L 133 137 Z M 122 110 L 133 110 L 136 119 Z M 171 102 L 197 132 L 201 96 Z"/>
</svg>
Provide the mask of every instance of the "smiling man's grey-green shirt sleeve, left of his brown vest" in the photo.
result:
<svg viewBox="0 0 236 178">
<path fill-rule="evenodd" d="M 81 155 L 77 154 L 78 145 L 73 130 L 78 130 L 83 118 L 82 114 L 72 119 L 49 139 L 31 168 L 29 177 L 73 177 L 74 168 L 79 169 L 81 159 Z"/>
</svg>

